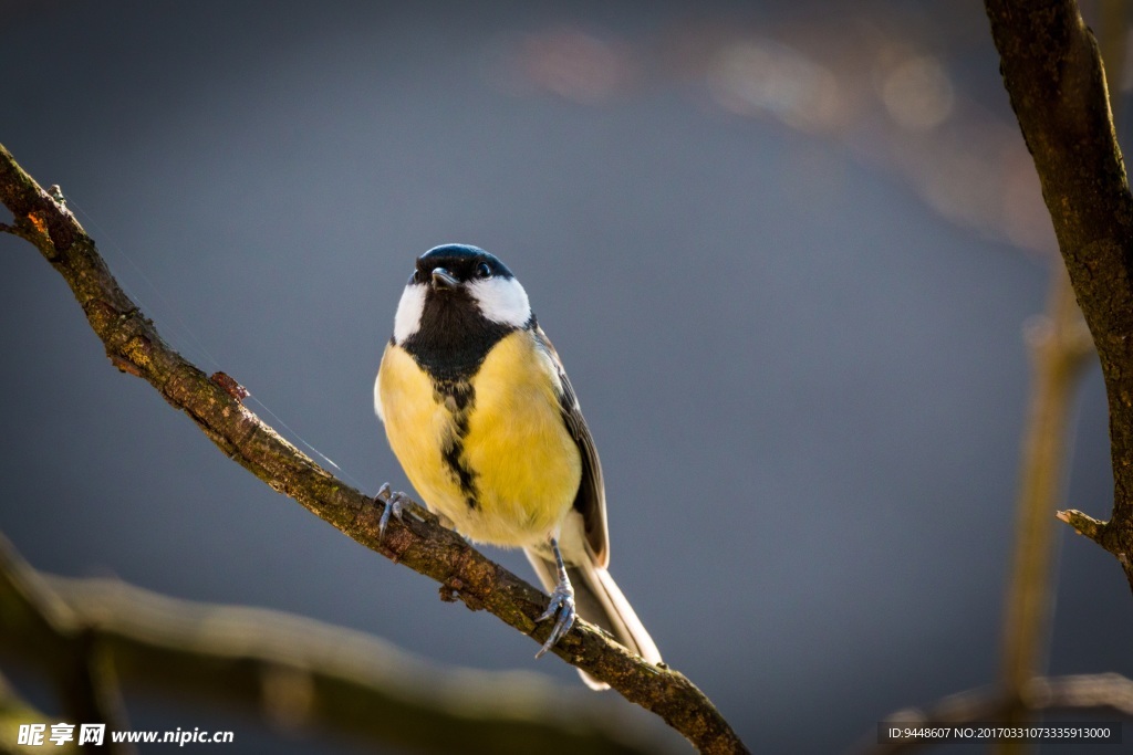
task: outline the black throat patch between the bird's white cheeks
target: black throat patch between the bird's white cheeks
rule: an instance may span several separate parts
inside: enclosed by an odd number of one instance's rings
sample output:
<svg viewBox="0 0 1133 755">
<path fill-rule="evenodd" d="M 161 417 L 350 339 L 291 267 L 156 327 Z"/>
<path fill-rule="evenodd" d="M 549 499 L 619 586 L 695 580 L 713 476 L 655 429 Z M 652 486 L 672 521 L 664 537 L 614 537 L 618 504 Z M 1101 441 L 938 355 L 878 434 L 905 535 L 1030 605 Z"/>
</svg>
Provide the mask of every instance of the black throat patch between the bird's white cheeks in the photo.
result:
<svg viewBox="0 0 1133 755">
<path fill-rule="evenodd" d="M 434 380 L 467 380 L 479 370 L 492 346 L 514 329 L 484 317 L 463 289 L 429 289 L 420 326 L 401 346 Z"/>
</svg>

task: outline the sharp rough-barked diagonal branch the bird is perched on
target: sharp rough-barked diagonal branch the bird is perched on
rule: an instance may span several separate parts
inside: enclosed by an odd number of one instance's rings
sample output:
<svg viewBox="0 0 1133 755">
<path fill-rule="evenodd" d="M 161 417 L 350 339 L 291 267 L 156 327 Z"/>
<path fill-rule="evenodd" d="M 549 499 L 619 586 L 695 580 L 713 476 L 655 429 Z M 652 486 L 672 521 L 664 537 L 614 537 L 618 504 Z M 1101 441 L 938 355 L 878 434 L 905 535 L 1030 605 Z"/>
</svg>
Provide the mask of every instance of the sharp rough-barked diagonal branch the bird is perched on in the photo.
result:
<svg viewBox="0 0 1133 755">
<path fill-rule="evenodd" d="M 0 146 L 0 201 L 15 234 L 32 242 L 70 285 L 87 321 L 118 369 L 136 375 L 185 411 L 230 458 L 355 541 L 432 577 L 445 600 L 485 609 L 542 643 L 536 623 L 546 597 L 484 557 L 420 506 L 378 538 L 382 506 L 315 464 L 241 403 L 225 375 L 212 379 L 169 348 L 107 268 L 75 216 Z M 342 590 L 352 587 L 342 585 Z M 653 711 L 707 753 L 746 752 L 712 701 L 680 672 L 647 663 L 599 629 L 578 621 L 553 652 Z"/>
</svg>

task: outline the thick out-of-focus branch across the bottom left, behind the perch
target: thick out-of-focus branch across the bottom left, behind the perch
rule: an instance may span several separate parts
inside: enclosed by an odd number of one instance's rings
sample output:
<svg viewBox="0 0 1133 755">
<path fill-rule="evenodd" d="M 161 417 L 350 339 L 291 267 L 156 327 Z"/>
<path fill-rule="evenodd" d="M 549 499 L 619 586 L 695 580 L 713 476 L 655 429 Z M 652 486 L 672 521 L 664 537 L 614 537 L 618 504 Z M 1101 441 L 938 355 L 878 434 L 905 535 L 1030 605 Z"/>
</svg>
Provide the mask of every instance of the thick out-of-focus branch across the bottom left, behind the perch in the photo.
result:
<svg viewBox="0 0 1133 755">
<path fill-rule="evenodd" d="M 36 620 L 44 609 L 56 616 Z M 657 749 L 627 741 L 627 721 L 599 698 L 564 695 L 531 674 L 445 671 L 375 637 L 278 611 L 174 600 L 117 580 L 44 578 L 2 537 L 0 616 L 9 662 L 50 666 L 85 638 L 125 683 L 242 707 L 287 730 L 318 726 L 437 753 Z"/>
</svg>

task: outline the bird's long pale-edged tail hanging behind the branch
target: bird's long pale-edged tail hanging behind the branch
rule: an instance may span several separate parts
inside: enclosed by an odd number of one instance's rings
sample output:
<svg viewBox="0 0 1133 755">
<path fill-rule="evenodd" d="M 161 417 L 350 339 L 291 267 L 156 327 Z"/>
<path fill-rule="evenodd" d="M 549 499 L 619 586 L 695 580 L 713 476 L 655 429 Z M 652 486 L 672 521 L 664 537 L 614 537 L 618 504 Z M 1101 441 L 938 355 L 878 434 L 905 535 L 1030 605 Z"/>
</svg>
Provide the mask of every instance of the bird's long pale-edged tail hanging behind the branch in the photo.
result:
<svg viewBox="0 0 1133 755">
<path fill-rule="evenodd" d="M 525 549 L 523 552 L 527 554 L 527 560 L 535 568 L 543 587 L 547 591 L 554 590 L 559 581 L 554 561 L 544 559 L 531 549 Z M 566 576 L 574 586 L 574 607 L 579 616 L 614 635 L 617 642 L 648 662 L 661 662 L 657 645 L 646 632 L 641 619 L 633 612 L 633 607 L 619 590 L 614 578 L 610 576 L 610 572 L 583 559 L 582 564 L 568 564 Z M 610 687 L 585 671 L 580 670 L 579 675 L 591 689 Z"/>
</svg>

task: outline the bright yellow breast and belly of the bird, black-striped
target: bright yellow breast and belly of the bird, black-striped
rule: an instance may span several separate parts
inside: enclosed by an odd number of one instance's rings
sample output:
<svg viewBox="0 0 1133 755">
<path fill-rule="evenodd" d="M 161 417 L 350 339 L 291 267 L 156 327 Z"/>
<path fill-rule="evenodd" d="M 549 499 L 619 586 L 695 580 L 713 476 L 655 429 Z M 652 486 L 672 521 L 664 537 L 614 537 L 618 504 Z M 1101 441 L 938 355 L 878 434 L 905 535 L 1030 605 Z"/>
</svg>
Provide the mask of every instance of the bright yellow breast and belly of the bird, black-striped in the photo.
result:
<svg viewBox="0 0 1133 755">
<path fill-rule="evenodd" d="M 557 381 L 551 358 L 517 331 L 469 378 L 463 412 L 397 345 L 385 350 L 377 388 L 390 446 L 429 508 L 474 540 L 517 547 L 546 540 L 581 480 Z"/>
</svg>

